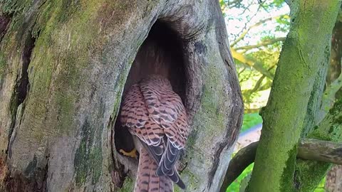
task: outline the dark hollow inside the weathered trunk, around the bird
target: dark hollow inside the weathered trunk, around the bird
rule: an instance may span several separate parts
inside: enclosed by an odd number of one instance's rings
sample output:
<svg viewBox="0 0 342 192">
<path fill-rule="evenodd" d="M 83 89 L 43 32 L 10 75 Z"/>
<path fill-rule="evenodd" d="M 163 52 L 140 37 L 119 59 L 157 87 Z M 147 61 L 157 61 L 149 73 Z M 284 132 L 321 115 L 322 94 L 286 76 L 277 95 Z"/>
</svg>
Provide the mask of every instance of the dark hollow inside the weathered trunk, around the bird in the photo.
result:
<svg viewBox="0 0 342 192">
<path fill-rule="evenodd" d="M 140 47 L 125 83 L 125 92 L 142 78 L 158 74 L 170 80 L 172 88 L 185 101 L 186 73 L 182 40 L 167 23 L 157 21 Z M 123 101 L 122 98 L 122 101 Z M 127 129 L 120 126 L 120 114 L 115 122 L 117 150 L 130 151 L 134 144 Z"/>
</svg>

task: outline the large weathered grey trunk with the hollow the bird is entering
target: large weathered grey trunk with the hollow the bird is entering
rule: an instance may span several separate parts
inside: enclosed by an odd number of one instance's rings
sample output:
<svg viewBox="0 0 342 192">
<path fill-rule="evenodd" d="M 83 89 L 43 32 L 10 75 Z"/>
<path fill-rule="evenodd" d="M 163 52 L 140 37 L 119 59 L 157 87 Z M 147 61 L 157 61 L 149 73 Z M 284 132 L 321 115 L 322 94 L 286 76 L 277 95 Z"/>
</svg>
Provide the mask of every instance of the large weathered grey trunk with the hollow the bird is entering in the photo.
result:
<svg viewBox="0 0 342 192">
<path fill-rule="evenodd" d="M 130 191 L 116 122 L 125 88 L 159 73 L 192 131 L 187 191 L 218 191 L 242 97 L 218 1 L 1 1 L 0 191 Z M 116 126 L 115 126 L 116 124 Z M 120 138 L 120 139 L 119 139 Z"/>
</svg>

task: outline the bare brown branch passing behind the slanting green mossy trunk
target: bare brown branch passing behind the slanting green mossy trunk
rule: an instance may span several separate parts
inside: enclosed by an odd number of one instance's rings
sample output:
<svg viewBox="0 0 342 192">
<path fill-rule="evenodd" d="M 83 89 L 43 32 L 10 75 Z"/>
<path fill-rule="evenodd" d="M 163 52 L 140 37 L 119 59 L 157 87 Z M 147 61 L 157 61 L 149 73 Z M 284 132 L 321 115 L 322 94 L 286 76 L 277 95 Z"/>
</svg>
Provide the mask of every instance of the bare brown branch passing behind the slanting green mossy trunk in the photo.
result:
<svg viewBox="0 0 342 192">
<path fill-rule="evenodd" d="M 221 192 L 226 191 L 227 187 L 242 174 L 242 171 L 254 162 L 258 144 L 259 142 L 249 144 L 235 154 L 229 162 Z M 342 144 L 317 139 L 301 139 L 297 158 L 342 165 Z"/>
</svg>

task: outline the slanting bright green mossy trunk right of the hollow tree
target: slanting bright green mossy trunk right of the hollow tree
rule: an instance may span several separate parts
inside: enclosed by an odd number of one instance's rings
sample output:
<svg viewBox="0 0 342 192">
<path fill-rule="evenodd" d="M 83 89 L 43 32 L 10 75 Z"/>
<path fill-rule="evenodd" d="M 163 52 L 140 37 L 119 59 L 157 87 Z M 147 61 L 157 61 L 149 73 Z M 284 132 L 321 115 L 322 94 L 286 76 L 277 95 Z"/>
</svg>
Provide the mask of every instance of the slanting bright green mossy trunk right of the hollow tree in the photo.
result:
<svg viewBox="0 0 342 192">
<path fill-rule="evenodd" d="M 291 29 L 281 51 L 269 102 L 261 112 L 263 131 L 247 191 L 295 191 L 299 187 L 294 183 L 297 144 L 341 2 L 293 2 L 291 8 L 297 9 L 291 10 Z"/>
</svg>

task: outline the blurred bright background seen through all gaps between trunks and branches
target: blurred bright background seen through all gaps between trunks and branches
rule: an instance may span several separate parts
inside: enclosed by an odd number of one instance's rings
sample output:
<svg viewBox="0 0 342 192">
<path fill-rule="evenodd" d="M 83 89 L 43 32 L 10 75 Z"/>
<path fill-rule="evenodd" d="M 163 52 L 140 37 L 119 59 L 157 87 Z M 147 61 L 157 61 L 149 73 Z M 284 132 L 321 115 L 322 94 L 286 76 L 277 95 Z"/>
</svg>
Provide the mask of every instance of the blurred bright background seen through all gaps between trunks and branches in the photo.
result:
<svg viewBox="0 0 342 192">
<path fill-rule="evenodd" d="M 259 140 L 262 118 L 259 110 L 267 103 L 281 46 L 290 28 L 290 9 L 284 0 L 220 0 L 227 25 L 229 43 L 237 66 L 244 100 L 244 121 L 235 152 Z M 333 29 L 331 59 L 322 107 L 329 108 L 341 98 L 341 11 Z M 232 183 L 227 191 L 239 191 L 253 164 Z M 340 175 L 339 175 L 340 174 Z M 336 179 L 337 178 L 337 179 Z M 318 191 L 340 191 L 342 167 L 333 166 L 316 188 Z"/>
</svg>

